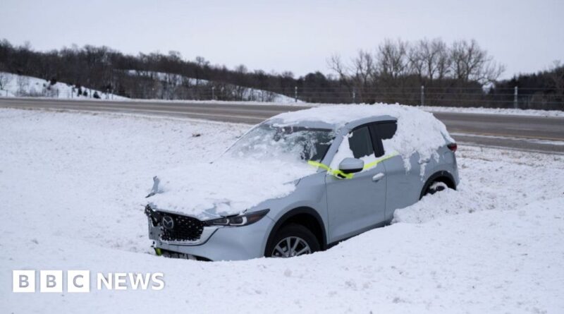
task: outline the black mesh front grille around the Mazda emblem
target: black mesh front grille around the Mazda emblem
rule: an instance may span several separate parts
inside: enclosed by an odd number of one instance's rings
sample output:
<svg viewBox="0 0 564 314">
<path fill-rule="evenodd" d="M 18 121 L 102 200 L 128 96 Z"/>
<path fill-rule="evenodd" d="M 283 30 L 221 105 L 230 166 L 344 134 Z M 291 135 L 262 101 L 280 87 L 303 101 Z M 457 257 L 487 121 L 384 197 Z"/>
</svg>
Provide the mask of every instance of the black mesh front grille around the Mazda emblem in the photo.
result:
<svg viewBox="0 0 564 314">
<path fill-rule="evenodd" d="M 182 215 L 174 215 L 168 213 L 161 213 L 161 227 L 162 234 L 161 240 L 163 241 L 196 241 L 202 236 L 204 231 L 204 223 L 192 217 Z M 166 217 L 173 219 L 174 226 L 172 229 L 167 229 L 163 220 Z"/>
</svg>

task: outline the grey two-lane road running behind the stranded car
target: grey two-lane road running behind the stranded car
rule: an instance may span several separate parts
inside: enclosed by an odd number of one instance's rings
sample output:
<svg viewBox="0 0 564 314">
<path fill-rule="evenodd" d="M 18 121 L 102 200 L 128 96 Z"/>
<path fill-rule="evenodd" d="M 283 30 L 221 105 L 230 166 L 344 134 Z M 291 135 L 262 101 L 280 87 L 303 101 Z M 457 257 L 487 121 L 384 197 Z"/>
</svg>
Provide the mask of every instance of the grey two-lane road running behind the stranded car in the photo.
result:
<svg viewBox="0 0 564 314">
<path fill-rule="evenodd" d="M 0 98 L 0 107 L 109 111 L 180 116 L 236 123 L 259 123 L 300 106 L 204 102 L 87 101 L 75 99 Z M 564 118 L 436 112 L 458 143 L 564 154 Z"/>
</svg>

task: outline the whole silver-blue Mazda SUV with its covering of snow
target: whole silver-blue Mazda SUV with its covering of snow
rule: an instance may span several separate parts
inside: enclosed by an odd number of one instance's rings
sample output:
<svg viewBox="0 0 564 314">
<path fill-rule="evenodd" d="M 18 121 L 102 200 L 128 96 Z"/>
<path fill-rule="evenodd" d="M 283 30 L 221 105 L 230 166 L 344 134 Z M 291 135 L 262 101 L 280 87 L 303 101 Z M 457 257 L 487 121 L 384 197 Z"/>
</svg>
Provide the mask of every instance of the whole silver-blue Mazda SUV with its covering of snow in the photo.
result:
<svg viewBox="0 0 564 314">
<path fill-rule="evenodd" d="M 214 162 L 155 176 L 149 238 L 159 255 L 197 260 L 324 250 L 388 224 L 427 193 L 455 189 L 455 150 L 444 124 L 412 107 L 278 114 Z"/>
</svg>

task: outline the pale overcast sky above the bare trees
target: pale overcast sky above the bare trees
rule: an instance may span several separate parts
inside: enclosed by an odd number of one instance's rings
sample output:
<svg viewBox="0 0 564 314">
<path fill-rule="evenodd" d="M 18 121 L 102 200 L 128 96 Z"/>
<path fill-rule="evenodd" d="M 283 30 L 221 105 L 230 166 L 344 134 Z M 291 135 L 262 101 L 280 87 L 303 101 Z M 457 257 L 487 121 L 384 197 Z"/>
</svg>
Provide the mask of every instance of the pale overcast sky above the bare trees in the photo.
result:
<svg viewBox="0 0 564 314">
<path fill-rule="evenodd" d="M 265 71 L 329 73 L 326 59 L 384 38 L 474 38 L 503 78 L 564 62 L 564 1 L 1 0 L 0 39 L 34 49 L 105 45 Z"/>
</svg>

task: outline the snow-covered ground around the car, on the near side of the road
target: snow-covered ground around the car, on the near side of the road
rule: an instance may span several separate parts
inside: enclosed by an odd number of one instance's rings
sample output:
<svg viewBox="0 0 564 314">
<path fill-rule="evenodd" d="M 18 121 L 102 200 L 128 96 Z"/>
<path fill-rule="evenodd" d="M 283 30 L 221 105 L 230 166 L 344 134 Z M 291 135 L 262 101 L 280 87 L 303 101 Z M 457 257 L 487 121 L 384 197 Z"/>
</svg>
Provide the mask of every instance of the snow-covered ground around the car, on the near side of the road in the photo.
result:
<svg viewBox="0 0 564 314">
<path fill-rule="evenodd" d="M 458 191 L 426 197 L 398 210 L 391 226 L 313 255 L 154 255 L 139 203 L 154 172 L 214 159 L 247 128 L 0 109 L 0 312 L 563 312 L 561 155 L 459 147 Z M 14 294 L 12 270 L 163 272 L 166 286 Z"/>
</svg>

